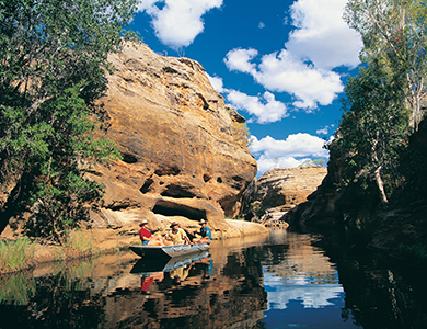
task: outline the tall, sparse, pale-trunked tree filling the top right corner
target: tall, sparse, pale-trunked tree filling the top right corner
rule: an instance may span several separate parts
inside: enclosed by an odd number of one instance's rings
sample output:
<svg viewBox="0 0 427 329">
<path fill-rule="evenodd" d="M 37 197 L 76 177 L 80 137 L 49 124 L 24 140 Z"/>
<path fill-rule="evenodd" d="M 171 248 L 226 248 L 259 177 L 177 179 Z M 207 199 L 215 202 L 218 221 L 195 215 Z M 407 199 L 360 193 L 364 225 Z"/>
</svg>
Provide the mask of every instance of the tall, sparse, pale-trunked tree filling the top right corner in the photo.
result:
<svg viewBox="0 0 427 329">
<path fill-rule="evenodd" d="M 415 131 L 423 120 L 426 95 L 427 5 L 419 0 L 349 0 L 345 20 L 363 39 L 361 58 L 373 58 L 384 70 L 401 76 L 405 106 Z"/>
</svg>

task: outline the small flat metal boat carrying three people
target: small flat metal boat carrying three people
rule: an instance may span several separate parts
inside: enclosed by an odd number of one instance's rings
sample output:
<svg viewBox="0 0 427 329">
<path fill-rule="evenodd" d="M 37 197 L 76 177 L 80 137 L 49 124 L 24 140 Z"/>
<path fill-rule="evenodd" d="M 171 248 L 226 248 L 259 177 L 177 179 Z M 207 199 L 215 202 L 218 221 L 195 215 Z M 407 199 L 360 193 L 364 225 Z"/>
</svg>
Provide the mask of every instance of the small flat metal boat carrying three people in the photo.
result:
<svg viewBox="0 0 427 329">
<path fill-rule="evenodd" d="M 174 258 L 201 252 L 209 249 L 209 243 L 172 245 L 172 246 L 130 246 L 136 254 L 150 258 Z"/>
</svg>

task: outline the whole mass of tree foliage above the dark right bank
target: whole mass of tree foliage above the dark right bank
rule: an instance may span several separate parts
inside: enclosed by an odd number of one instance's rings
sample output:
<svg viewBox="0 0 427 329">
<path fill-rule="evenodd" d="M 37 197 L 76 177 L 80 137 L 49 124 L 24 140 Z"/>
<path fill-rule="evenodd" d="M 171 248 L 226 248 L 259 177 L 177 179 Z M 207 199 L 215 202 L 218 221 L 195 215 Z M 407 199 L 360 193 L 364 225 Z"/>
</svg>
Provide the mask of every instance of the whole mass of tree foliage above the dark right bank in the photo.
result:
<svg viewBox="0 0 427 329">
<path fill-rule="evenodd" d="M 422 1 L 349 0 L 344 18 L 363 39 L 362 66 L 346 86 L 342 123 L 327 148 L 343 163 L 342 202 L 388 204 L 402 181 L 401 150 L 423 118 L 427 8 Z"/>
</svg>

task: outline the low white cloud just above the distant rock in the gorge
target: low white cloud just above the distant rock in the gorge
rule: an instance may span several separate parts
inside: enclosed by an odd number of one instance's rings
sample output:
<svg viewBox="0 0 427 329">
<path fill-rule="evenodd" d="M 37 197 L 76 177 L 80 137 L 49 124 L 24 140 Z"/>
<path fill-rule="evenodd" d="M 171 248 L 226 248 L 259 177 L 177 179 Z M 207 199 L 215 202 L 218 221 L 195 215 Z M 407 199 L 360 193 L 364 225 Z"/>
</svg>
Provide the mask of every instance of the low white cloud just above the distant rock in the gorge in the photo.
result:
<svg viewBox="0 0 427 329">
<path fill-rule="evenodd" d="M 289 135 L 285 140 L 251 136 L 250 140 L 250 150 L 257 157 L 258 174 L 273 168 L 295 168 L 305 160 L 328 157 L 323 148 L 325 140 L 310 134 Z"/>
</svg>

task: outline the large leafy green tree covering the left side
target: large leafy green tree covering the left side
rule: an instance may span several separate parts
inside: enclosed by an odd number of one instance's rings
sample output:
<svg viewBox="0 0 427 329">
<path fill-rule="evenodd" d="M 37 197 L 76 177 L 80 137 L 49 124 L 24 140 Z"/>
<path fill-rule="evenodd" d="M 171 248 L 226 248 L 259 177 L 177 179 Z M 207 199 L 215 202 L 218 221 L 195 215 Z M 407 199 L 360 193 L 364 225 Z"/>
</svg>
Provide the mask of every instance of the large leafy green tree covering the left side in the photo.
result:
<svg viewBox="0 0 427 329">
<path fill-rule="evenodd" d="M 136 0 L 0 0 L 0 231 L 31 209 L 28 232 L 64 231 L 101 186 L 90 163 L 117 156 L 94 138 L 111 52 Z"/>
</svg>

